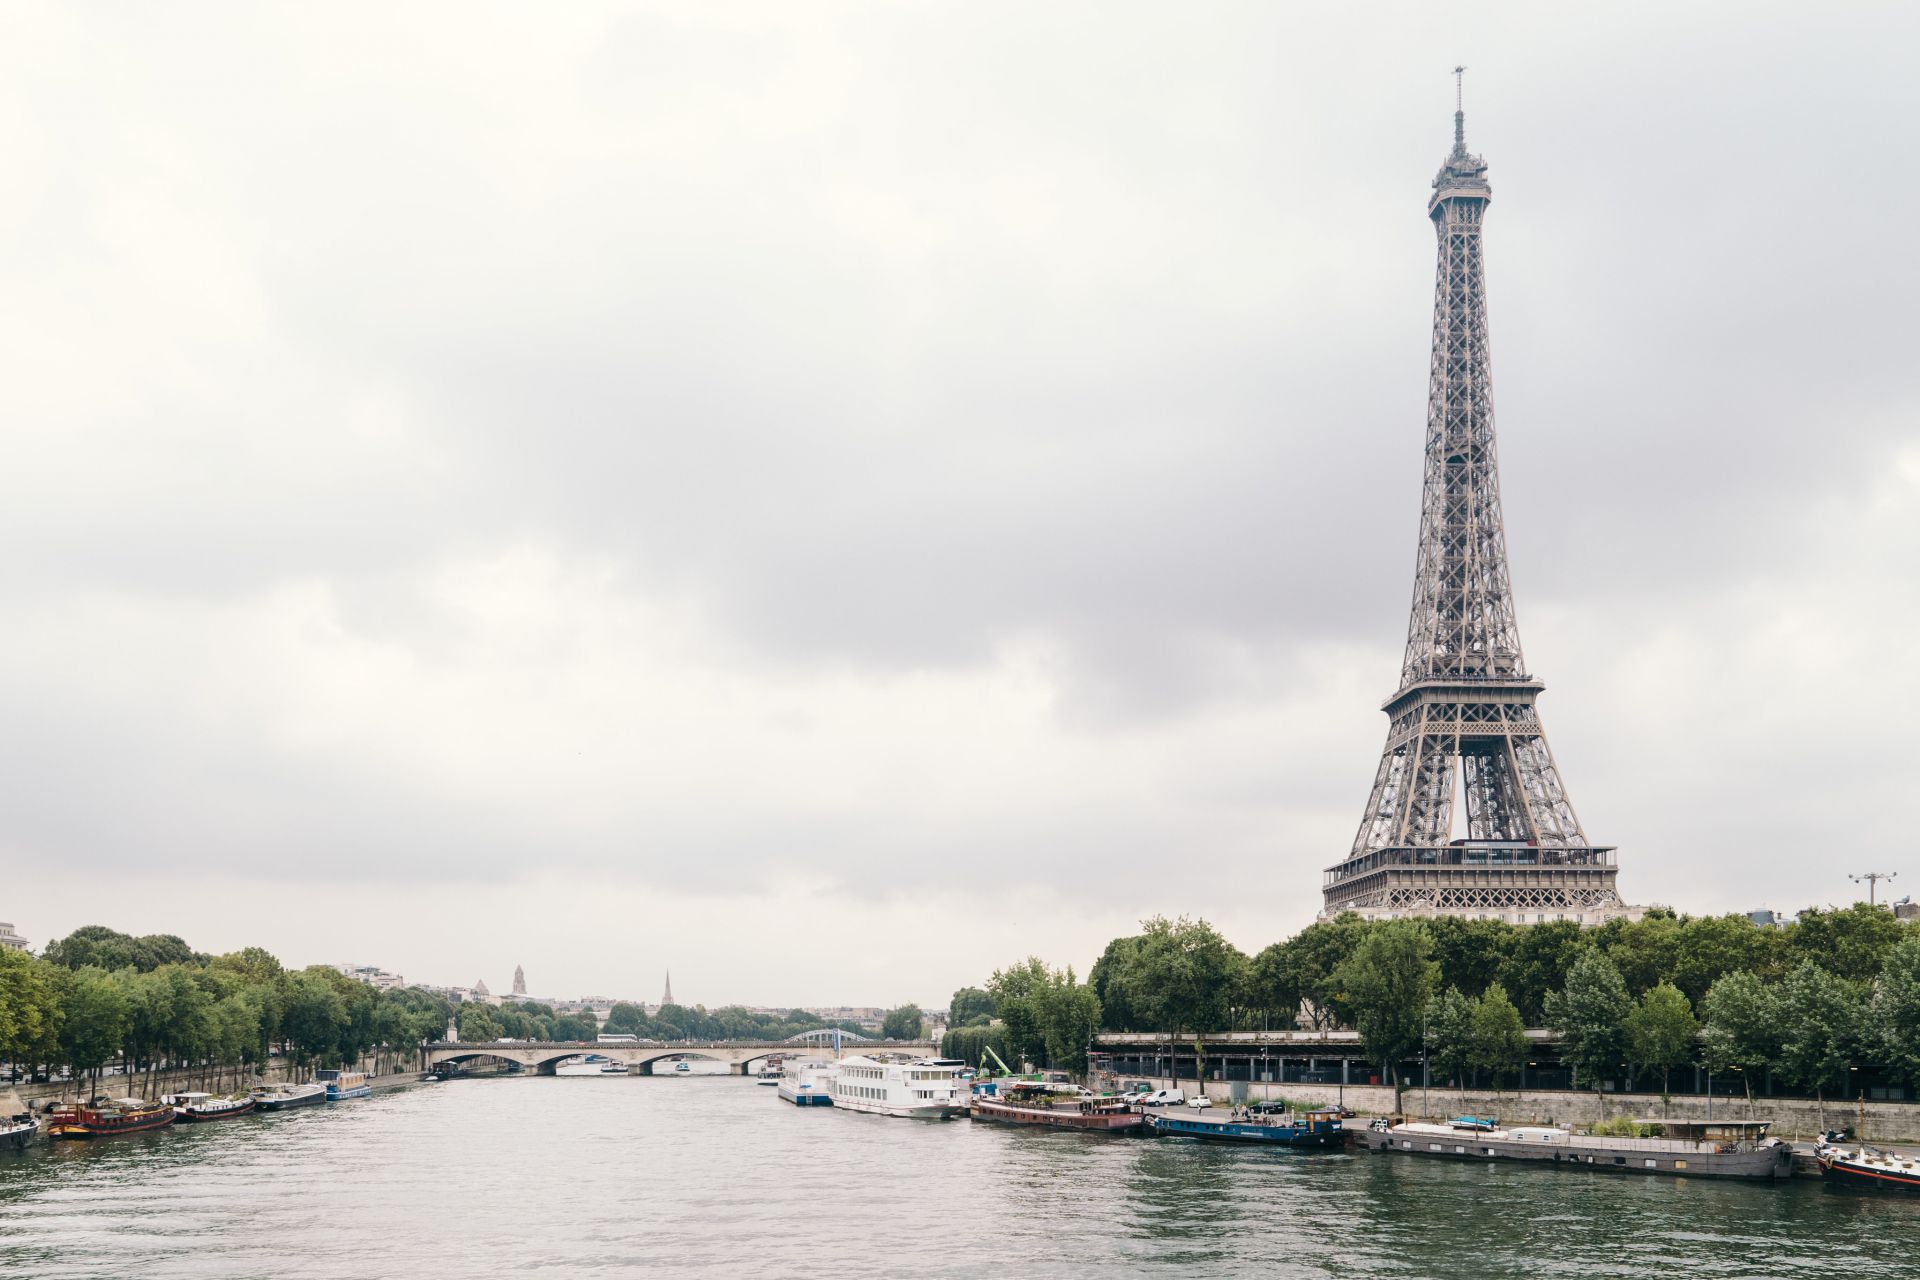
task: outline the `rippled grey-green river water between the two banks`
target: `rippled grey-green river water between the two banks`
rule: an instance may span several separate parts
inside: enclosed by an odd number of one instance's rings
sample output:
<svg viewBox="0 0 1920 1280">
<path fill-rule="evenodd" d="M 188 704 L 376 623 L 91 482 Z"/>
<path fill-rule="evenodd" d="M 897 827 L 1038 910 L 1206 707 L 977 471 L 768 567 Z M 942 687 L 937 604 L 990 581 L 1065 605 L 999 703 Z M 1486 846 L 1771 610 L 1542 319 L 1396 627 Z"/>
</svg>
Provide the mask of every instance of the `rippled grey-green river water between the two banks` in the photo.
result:
<svg viewBox="0 0 1920 1280">
<path fill-rule="evenodd" d="M 0 1276 L 1914 1276 L 1920 1199 L 493 1079 L 0 1157 Z"/>
</svg>

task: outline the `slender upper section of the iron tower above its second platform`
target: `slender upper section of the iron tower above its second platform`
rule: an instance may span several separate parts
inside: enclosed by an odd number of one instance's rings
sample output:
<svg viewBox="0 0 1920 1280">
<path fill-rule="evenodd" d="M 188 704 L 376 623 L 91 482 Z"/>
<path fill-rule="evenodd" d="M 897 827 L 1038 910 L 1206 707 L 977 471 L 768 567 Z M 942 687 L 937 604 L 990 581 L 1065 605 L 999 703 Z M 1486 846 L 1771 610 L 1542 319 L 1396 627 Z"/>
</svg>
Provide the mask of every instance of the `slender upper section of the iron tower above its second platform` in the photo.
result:
<svg viewBox="0 0 1920 1280">
<path fill-rule="evenodd" d="M 1494 449 L 1494 361 L 1480 251 L 1492 198 L 1486 161 L 1467 150 L 1467 115 L 1455 109 L 1453 150 L 1427 203 L 1440 261 L 1404 691 L 1434 679 L 1526 679 Z"/>
</svg>

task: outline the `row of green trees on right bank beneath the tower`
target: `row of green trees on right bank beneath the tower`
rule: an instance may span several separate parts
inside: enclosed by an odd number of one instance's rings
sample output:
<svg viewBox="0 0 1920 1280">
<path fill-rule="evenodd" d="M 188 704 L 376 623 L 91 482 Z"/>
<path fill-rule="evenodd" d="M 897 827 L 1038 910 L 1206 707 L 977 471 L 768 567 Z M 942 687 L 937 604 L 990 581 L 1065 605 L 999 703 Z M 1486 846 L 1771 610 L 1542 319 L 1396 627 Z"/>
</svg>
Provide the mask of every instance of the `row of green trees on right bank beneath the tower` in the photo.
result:
<svg viewBox="0 0 1920 1280">
<path fill-rule="evenodd" d="M 1438 1079 L 1494 1088 L 1557 1032 L 1576 1084 L 1659 1084 L 1693 1063 L 1766 1071 L 1816 1098 L 1853 1067 L 1920 1088 L 1920 925 L 1857 904 L 1786 927 L 1674 915 L 1569 921 L 1317 921 L 1246 956 L 1212 925 L 1154 917 L 1085 981 L 1029 958 L 954 992 L 943 1052 L 1087 1069 L 1094 1031 L 1352 1029 L 1384 1077 L 1427 1055 Z M 1204 1071 L 1204 1065 L 1202 1065 Z"/>
</svg>

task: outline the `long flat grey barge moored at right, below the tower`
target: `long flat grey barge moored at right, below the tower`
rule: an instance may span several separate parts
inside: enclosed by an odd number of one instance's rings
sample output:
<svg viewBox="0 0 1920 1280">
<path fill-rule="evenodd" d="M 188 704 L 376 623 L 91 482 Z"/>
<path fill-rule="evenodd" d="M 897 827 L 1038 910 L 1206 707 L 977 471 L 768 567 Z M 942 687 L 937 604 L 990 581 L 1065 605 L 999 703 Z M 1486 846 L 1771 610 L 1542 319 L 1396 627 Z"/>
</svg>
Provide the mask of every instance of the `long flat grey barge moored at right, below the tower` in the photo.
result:
<svg viewBox="0 0 1920 1280">
<path fill-rule="evenodd" d="M 1609 1138 L 1557 1126 L 1392 1125 L 1361 1130 L 1369 1151 L 1446 1159 L 1532 1161 L 1601 1173 L 1665 1173 L 1684 1178 L 1793 1176 L 1793 1148 L 1768 1138 L 1770 1121 L 1640 1121 L 1657 1138 Z"/>
</svg>

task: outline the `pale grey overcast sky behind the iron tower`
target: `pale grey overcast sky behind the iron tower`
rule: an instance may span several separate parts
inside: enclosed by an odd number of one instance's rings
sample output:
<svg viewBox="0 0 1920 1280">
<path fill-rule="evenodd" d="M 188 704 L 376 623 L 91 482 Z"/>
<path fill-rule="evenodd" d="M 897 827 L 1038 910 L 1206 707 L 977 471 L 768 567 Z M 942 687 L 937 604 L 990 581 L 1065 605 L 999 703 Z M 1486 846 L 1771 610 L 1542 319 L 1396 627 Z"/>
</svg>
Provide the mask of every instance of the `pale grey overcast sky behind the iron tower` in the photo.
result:
<svg viewBox="0 0 1920 1280">
<path fill-rule="evenodd" d="M 708 1006 L 1294 933 L 1455 61 L 1588 835 L 1920 890 L 1920 10 L 1814 8 L 6 4 L 0 919 Z"/>
</svg>

